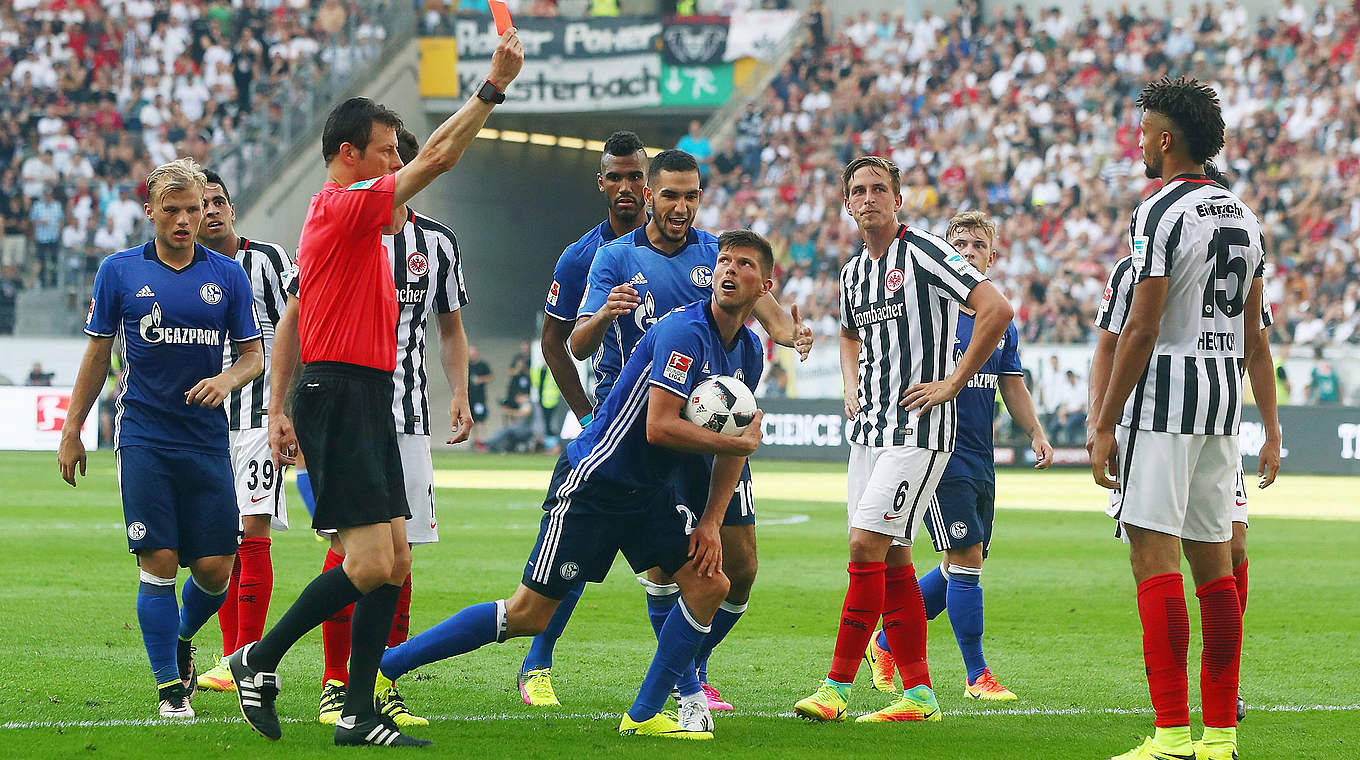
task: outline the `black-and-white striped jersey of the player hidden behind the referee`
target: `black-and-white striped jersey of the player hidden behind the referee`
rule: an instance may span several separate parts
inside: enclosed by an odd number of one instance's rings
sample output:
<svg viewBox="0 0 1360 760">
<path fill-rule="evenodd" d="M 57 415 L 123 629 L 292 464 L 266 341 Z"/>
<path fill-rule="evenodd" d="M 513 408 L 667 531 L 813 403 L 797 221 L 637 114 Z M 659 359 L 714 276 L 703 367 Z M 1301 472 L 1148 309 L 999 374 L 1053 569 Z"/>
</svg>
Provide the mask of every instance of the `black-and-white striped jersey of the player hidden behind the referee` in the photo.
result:
<svg viewBox="0 0 1360 760">
<path fill-rule="evenodd" d="M 397 432 L 430 435 L 430 378 L 426 371 L 426 318 L 468 305 L 462 256 L 453 230 L 407 209 L 396 235 L 382 235 L 397 286 L 397 368 L 392 373 L 392 415 Z M 296 277 L 288 292 L 298 294 Z"/>
</svg>

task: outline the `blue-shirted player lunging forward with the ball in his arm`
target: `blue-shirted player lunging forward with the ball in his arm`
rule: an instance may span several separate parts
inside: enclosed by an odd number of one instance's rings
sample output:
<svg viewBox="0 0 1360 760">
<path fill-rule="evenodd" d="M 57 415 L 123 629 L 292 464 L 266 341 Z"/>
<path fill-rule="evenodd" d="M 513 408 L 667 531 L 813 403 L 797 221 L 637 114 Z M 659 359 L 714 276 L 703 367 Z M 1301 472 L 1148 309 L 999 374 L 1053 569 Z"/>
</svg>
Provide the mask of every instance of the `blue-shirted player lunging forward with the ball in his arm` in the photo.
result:
<svg viewBox="0 0 1360 760">
<path fill-rule="evenodd" d="M 544 629 L 558 600 L 579 581 L 604 581 L 617 552 L 635 571 L 660 567 L 680 586 L 657 639 L 657 651 L 623 734 L 713 738 L 662 714 L 670 689 L 692 673 L 694 657 L 728 594 L 719 525 L 745 458 L 760 441 L 760 415 L 740 436 L 719 435 L 683 417 L 690 392 L 711 375 L 733 375 L 755 387 L 763 351 L 745 321 L 770 291 L 774 256 L 764 238 L 724 232 L 709 299 L 675 310 L 636 345 L 596 419 L 558 461 L 543 508 L 539 540 L 509 600 L 462 609 L 382 658 L 382 673 L 413 668 L 492 642 Z M 713 455 L 711 469 L 695 466 Z M 703 510 L 676 506 L 696 485 L 681 474 L 703 473 Z M 696 521 L 695 521 L 696 518 Z"/>
</svg>

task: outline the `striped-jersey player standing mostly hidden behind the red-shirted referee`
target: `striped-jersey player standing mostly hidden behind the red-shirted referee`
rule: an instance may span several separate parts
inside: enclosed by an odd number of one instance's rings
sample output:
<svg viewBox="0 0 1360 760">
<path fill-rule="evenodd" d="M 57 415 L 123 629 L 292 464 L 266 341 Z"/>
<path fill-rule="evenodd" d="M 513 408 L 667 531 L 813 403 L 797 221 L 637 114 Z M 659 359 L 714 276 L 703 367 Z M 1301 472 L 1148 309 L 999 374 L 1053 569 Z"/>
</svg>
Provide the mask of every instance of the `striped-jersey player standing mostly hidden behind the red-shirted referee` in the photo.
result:
<svg viewBox="0 0 1360 760">
<path fill-rule="evenodd" d="M 397 155 L 403 163 L 415 159 L 420 143 L 405 128 L 397 131 Z M 462 279 L 462 256 L 453 230 L 409 207 L 401 208 L 396 222 L 384 227 L 382 247 L 392 265 L 393 281 L 397 288 L 397 368 L 393 373 L 394 396 L 392 412 L 397 427 L 397 449 L 401 453 L 401 473 L 405 483 L 407 504 L 411 519 L 407 521 L 407 542 L 415 548 L 420 544 L 439 541 L 438 521 L 434 503 L 434 464 L 430 458 L 430 378 L 426 371 L 426 322 L 431 314 L 439 325 L 439 362 L 449 379 L 453 401 L 449 405 L 450 435 L 446 443 L 461 443 L 472 434 L 472 411 L 468 405 L 468 336 L 462 326 L 461 309 L 468 305 L 468 291 Z M 296 334 L 295 319 L 298 309 L 299 281 L 290 277 L 287 283 L 288 311 L 287 328 Z M 292 344 L 290 344 L 292 345 Z M 280 358 L 284 379 L 292 371 L 290 358 Z M 330 549 L 326 552 L 322 571 L 340 567 L 344 563 L 344 545 L 333 532 L 326 532 Z M 340 710 L 348 692 L 350 672 L 350 619 L 352 606 L 347 606 L 321 624 L 321 644 L 325 670 L 321 676 L 321 706 L 318 721 L 333 726 L 340 718 Z M 411 621 L 411 574 L 407 574 L 397 598 L 397 613 L 388 634 L 388 646 L 394 647 L 407 640 Z M 359 687 L 363 688 L 363 687 Z M 413 715 L 397 691 L 396 683 L 378 681 L 377 703 L 379 712 L 397 726 L 424 726 L 428 721 Z"/>
</svg>

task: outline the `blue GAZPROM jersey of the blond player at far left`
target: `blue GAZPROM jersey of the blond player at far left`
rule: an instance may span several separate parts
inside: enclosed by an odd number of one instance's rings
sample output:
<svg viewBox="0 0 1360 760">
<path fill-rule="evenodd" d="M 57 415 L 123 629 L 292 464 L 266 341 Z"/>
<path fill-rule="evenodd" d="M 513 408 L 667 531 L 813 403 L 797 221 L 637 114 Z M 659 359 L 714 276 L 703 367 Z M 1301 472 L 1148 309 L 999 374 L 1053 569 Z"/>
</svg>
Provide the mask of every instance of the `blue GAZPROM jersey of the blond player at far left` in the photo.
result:
<svg viewBox="0 0 1360 760">
<path fill-rule="evenodd" d="M 193 261 L 175 271 L 156 257 L 154 241 L 114 253 L 94 277 L 84 330 L 122 336 L 114 447 L 227 454 L 226 409 L 184 400 L 199 381 L 222 373 L 228 339 L 260 337 L 254 294 L 241 264 L 194 245 Z"/>
</svg>

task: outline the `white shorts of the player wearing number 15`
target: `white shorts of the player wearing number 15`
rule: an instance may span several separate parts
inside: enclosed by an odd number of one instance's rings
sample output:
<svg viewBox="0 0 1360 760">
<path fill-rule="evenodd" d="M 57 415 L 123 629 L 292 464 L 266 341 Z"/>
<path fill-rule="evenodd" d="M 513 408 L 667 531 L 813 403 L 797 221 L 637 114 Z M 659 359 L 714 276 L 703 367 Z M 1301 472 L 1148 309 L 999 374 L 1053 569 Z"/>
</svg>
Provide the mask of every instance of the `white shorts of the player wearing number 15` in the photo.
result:
<svg viewBox="0 0 1360 760">
<path fill-rule="evenodd" d="M 1235 435 L 1189 435 L 1115 427 L 1121 489 L 1106 514 L 1179 538 L 1223 542 L 1246 522 Z M 1239 519 L 1240 515 L 1240 519 Z M 1119 530 L 1117 536 L 1123 536 Z"/>
</svg>

